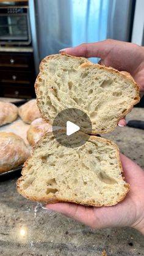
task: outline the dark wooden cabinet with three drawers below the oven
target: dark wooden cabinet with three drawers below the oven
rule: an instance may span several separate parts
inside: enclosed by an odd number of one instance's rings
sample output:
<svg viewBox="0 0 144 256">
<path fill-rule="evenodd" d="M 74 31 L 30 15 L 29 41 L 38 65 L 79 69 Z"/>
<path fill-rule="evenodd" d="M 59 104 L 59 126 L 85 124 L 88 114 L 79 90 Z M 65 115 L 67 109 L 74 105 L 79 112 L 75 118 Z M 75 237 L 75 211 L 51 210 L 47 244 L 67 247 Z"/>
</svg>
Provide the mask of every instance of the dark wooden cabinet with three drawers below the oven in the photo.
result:
<svg viewBox="0 0 144 256">
<path fill-rule="evenodd" d="M 0 97 L 35 97 L 32 53 L 0 53 Z"/>
</svg>

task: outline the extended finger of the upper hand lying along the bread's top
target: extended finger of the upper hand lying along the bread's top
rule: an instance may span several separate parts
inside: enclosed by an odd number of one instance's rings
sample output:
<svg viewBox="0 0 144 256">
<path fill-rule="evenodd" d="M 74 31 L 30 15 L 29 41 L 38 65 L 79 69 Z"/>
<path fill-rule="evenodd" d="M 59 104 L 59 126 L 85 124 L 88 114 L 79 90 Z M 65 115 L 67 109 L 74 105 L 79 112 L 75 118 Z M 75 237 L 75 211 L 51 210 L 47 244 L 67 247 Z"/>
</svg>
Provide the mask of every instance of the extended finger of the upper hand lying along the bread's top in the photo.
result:
<svg viewBox="0 0 144 256">
<path fill-rule="evenodd" d="M 96 43 L 82 43 L 77 47 L 62 49 L 59 51 L 59 53 L 83 56 L 85 58 L 96 57 L 103 59 L 106 58 L 110 50 L 112 50 L 113 41 L 115 40 L 108 39 Z"/>
</svg>

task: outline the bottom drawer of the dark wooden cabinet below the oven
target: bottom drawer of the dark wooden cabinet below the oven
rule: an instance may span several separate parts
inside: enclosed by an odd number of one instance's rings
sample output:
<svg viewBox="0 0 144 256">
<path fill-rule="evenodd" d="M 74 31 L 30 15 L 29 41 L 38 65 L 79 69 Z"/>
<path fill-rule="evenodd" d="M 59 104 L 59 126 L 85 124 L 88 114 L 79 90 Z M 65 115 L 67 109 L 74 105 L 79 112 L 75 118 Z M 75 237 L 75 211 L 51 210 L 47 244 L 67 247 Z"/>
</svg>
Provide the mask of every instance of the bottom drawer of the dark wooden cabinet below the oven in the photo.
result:
<svg viewBox="0 0 144 256">
<path fill-rule="evenodd" d="M 35 91 L 34 88 L 24 86 L 0 86 L 0 96 L 31 99 L 35 97 Z"/>
</svg>

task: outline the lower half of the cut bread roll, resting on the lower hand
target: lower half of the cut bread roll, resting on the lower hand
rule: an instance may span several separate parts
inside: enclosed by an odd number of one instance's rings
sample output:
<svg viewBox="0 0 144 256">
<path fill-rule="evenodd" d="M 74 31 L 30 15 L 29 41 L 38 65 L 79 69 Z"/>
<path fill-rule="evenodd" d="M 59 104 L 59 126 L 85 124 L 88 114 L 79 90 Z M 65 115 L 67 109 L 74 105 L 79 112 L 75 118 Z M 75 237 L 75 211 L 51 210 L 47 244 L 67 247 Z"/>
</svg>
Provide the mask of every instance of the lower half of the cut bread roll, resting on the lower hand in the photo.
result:
<svg viewBox="0 0 144 256">
<path fill-rule="evenodd" d="M 82 132 L 78 136 L 86 140 Z M 129 190 L 121 171 L 119 150 L 112 141 L 91 136 L 84 145 L 67 148 L 48 133 L 24 164 L 17 189 L 43 203 L 110 206 L 123 200 Z"/>
</svg>

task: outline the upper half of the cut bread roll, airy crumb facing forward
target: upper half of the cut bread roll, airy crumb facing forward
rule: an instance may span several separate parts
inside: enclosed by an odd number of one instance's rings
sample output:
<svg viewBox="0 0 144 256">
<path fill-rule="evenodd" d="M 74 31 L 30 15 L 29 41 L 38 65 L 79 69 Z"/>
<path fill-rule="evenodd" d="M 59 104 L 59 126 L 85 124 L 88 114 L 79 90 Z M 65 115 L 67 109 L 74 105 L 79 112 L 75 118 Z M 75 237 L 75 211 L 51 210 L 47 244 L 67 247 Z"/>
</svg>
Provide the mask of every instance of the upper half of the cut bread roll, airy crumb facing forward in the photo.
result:
<svg viewBox="0 0 144 256">
<path fill-rule="evenodd" d="M 139 88 L 131 75 L 65 54 L 43 59 L 35 81 L 41 116 L 50 124 L 66 108 L 78 108 L 92 121 L 92 134 L 110 132 L 137 104 Z"/>
</svg>

